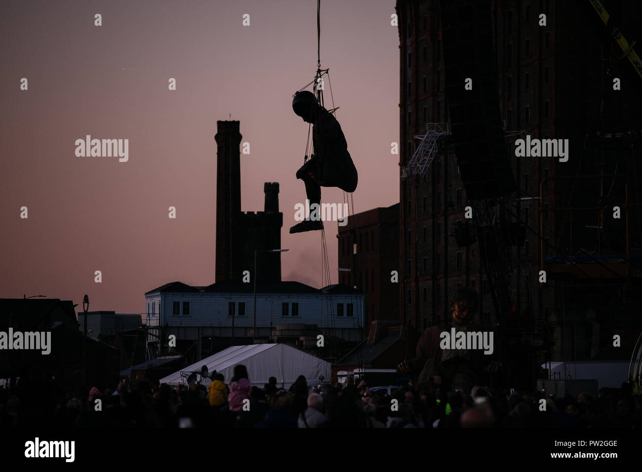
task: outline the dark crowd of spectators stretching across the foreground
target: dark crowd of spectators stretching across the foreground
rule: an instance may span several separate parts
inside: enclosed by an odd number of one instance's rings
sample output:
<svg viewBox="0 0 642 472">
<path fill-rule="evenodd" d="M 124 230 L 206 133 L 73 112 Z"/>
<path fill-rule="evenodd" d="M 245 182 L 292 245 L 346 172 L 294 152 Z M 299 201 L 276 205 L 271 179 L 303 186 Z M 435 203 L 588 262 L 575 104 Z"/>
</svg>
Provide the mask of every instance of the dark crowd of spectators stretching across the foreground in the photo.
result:
<svg viewBox="0 0 642 472">
<path fill-rule="evenodd" d="M 320 388 L 319 388 L 320 387 Z M 546 408 L 542 411 L 541 399 Z M 100 400 L 100 401 L 97 401 Z M 100 405 L 100 408 L 98 408 Z M 639 428 L 642 398 L 629 384 L 592 398 L 548 398 L 474 386 L 459 391 L 419 392 L 412 385 L 372 392 L 365 382 L 325 383 L 309 388 L 299 376 L 289 389 L 277 379 L 252 385 L 244 365 L 225 383 L 216 374 L 209 386 L 186 388 L 147 381 L 133 388 L 97 387 L 56 392 L 53 384 L 24 378 L 0 390 L 0 428 Z"/>
</svg>

